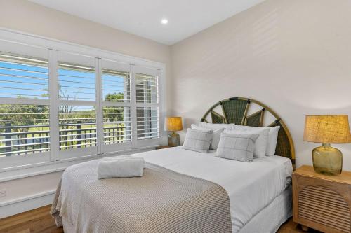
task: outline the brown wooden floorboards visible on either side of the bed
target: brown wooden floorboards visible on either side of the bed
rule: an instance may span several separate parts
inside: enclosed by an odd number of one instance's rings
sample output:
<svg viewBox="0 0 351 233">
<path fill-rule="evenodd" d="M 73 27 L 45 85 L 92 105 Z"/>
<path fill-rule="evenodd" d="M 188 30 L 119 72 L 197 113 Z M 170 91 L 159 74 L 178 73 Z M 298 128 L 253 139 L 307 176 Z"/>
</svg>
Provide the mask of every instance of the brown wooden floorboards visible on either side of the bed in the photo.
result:
<svg viewBox="0 0 351 233">
<path fill-rule="evenodd" d="M 34 233 L 34 232 L 63 232 L 62 227 L 56 227 L 55 221 L 50 216 L 51 206 L 44 206 L 39 209 L 19 213 L 18 215 L 8 218 L 0 219 L 1 233 Z M 301 233 L 304 232 L 300 225 L 293 223 L 290 218 L 282 227 L 279 228 L 278 233 Z M 317 232 L 317 231 L 309 231 Z M 262 232 L 264 233 L 264 232 Z"/>
</svg>

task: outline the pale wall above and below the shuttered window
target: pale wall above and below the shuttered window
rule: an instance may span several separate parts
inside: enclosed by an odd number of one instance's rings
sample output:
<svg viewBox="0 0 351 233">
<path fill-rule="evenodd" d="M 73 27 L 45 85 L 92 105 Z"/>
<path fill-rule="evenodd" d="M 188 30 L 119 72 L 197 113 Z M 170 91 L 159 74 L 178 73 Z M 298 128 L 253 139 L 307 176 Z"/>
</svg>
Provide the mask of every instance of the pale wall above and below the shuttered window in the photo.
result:
<svg viewBox="0 0 351 233">
<path fill-rule="evenodd" d="M 0 0 L 0 27 L 162 62 L 166 64 L 166 77 L 170 76 L 168 45 L 29 1 Z M 0 218 L 50 203 L 61 174 L 55 172 L 0 183 L 0 190 L 7 192 L 6 197 L 0 198 Z"/>
</svg>

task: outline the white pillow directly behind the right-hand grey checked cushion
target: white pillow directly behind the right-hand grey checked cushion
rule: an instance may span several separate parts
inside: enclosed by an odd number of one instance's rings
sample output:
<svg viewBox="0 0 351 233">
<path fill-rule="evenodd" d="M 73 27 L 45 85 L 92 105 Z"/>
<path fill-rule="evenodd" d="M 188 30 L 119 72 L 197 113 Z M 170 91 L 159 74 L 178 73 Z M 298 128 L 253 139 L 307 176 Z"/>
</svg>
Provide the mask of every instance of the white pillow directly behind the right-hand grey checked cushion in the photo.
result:
<svg viewBox="0 0 351 233">
<path fill-rule="evenodd" d="M 258 134 L 259 136 L 255 143 L 253 157 L 265 157 L 270 129 L 260 129 L 256 127 L 253 129 L 225 129 L 223 132 L 227 134 Z"/>
</svg>

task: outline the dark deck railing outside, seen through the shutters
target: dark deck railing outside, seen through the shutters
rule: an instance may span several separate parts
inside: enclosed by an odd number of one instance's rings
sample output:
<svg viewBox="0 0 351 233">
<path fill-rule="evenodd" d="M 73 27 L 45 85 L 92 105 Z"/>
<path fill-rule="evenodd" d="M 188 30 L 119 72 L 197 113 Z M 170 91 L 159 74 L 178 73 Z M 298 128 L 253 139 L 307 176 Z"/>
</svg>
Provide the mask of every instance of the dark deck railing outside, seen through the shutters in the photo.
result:
<svg viewBox="0 0 351 233">
<path fill-rule="evenodd" d="M 60 127 L 60 150 L 85 148 L 96 145 L 95 123 L 81 123 Z M 20 130 L 25 132 L 19 132 Z M 49 125 L 0 127 L 0 157 L 11 155 L 28 155 L 46 152 L 50 148 Z M 124 125 L 104 127 L 105 144 L 128 141 Z"/>
</svg>

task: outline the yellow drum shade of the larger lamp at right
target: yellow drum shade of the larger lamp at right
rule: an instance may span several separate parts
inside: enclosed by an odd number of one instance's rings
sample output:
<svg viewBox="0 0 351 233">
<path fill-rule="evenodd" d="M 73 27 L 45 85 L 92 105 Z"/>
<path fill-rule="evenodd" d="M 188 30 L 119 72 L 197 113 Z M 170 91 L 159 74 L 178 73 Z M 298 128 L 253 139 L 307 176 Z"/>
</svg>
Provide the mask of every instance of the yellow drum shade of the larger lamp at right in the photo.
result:
<svg viewBox="0 0 351 233">
<path fill-rule="evenodd" d="M 303 140 L 319 143 L 350 143 L 348 115 L 306 115 Z"/>
</svg>

